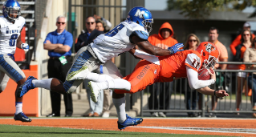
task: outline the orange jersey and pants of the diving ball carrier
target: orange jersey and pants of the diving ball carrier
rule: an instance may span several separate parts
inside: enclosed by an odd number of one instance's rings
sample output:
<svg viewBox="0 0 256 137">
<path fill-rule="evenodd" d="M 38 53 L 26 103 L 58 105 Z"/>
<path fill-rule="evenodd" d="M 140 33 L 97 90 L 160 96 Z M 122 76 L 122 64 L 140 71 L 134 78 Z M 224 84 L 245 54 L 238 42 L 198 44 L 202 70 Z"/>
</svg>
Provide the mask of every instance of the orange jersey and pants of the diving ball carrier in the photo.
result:
<svg viewBox="0 0 256 137">
<path fill-rule="evenodd" d="M 146 60 L 138 62 L 132 74 L 124 77 L 131 83 L 131 91 L 115 90 L 115 92 L 117 94 L 135 93 L 153 83 L 172 82 L 174 79 L 186 78 L 186 66 L 199 71 L 203 62 L 196 50 L 184 50 L 158 58 L 160 65 Z"/>
</svg>

